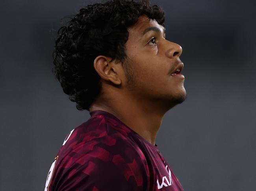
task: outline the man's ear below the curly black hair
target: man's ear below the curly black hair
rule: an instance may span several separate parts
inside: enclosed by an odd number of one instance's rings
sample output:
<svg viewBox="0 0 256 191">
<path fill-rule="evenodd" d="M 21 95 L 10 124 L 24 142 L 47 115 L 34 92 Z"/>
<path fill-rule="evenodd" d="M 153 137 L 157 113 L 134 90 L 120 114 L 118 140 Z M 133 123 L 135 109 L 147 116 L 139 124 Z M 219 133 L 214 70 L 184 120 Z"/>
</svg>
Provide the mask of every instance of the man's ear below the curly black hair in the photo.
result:
<svg viewBox="0 0 256 191">
<path fill-rule="evenodd" d="M 120 85 L 121 72 L 118 72 L 118 64 L 115 64 L 114 61 L 110 62 L 111 58 L 107 56 L 97 56 L 94 60 L 94 68 L 98 75 L 106 81 L 111 81 L 113 84 Z"/>
</svg>

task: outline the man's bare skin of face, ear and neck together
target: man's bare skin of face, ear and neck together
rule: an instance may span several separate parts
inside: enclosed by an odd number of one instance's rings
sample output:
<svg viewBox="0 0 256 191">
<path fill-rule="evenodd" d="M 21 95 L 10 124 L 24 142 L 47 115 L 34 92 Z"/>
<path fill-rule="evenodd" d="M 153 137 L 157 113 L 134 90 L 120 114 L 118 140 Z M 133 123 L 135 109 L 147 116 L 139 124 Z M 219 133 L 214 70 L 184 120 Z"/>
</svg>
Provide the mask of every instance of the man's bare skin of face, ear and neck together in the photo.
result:
<svg viewBox="0 0 256 191">
<path fill-rule="evenodd" d="M 149 27 L 151 30 L 147 30 Z M 121 62 L 110 62 L 109 57 L 95 58 L 102 92 L 89 111 L 103 110 L 115 115 L 155 145 L 163 116 L 186 98 L 184 76 L 171 75 L 183 68 L 179 58 L 182 47 L 166 40 L 163 26 L 145 15 L 128 32 L 125 62 L 128 71 Z"/>
</svg>

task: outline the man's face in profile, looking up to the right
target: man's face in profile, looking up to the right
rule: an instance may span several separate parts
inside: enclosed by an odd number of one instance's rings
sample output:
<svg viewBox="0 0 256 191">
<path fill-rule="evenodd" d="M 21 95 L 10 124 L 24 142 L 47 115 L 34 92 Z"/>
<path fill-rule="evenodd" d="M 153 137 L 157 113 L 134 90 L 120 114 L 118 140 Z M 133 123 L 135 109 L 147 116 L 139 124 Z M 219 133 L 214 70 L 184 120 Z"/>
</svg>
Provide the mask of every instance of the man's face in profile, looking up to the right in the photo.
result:
<svg viewBox="0 0 256 191">
<path fill-rule="evenodd" d="M 126 88 L 134 97 L 173 107 L 186 98 L 182 47 L 165 39 L 165 29 L 143 15 L 128 28 Z"/>
</svg>

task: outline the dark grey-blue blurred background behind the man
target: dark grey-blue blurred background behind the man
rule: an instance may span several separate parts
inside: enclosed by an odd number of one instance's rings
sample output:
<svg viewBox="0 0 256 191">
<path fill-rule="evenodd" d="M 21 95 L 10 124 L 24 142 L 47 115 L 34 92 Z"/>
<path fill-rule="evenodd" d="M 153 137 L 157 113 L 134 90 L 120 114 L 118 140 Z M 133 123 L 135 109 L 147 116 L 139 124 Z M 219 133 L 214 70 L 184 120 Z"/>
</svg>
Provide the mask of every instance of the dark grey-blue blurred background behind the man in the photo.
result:
<svg viewBox="0 0 256 191">
<path fill-rule="evenodd" d="M 55 80 L 64 16 L 96 0 L 2 0 L 0 190 L 43 190 L 65 136 L 89 118 Z M 185 191 L 256 188 L 256 1 L 154 0 L 167 38 L 183 48 L 186 101 L 156 144 Z"/>
</svg>

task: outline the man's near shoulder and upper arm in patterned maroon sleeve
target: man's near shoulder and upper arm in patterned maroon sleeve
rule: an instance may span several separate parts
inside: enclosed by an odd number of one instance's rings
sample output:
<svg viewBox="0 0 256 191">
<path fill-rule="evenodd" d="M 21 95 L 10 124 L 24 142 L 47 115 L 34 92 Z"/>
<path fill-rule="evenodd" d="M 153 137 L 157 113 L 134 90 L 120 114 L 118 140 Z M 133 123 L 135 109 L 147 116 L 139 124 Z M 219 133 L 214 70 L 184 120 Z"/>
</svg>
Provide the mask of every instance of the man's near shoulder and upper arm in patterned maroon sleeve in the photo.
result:
<svg viewBox="0 0 256 191">
<path fill-rule="evenodd" d="M 126 185 L 127 190 L 144 190 L 149 176 L 145 156 L 134 141 L 105 120 L 89 119 L 67 135 L 56 166 L 56 188 L 72 181 L 86 190 L 93 190 L 92 185 L 99 190 L 117 189 L 109 182 L 117 187 Z"/>
</svg>

